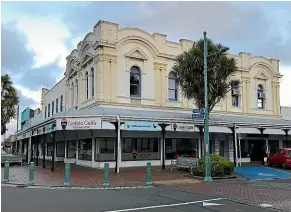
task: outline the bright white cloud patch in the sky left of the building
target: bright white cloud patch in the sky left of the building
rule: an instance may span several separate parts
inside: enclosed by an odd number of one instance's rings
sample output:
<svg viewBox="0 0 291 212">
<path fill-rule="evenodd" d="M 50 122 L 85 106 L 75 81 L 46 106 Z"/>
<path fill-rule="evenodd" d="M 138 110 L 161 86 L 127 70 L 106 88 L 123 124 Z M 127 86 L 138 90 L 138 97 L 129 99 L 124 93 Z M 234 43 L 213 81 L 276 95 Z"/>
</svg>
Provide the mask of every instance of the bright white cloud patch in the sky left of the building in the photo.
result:
<svg viewBox="0 0 291 212">
<path fill-rule="evenodd" d="M 65 67 L 69 50 L 64 41 L 70 38 L 71 34 L 60 20 L 51 17 L 24 16 L 17 20 L 17 27 L 27 35 L 28 49 L 36 54 L 34 67 L 41 67 L 55 61 L 60 67 Z"/>
</svg>

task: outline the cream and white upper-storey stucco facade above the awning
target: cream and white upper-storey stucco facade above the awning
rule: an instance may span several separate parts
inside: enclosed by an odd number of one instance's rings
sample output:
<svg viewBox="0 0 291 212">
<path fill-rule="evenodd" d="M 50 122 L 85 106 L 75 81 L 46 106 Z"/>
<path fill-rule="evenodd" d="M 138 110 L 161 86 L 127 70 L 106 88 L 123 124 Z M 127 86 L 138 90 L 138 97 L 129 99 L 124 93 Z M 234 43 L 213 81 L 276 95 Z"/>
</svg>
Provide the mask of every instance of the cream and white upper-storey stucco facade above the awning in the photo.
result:
<svg viewBox="0 0 291 212">
<path fill-rule="evenodd" d="M 177 101 L 168 100 L 168 75 L 174 65 L 174 59 L 178 54 L 188 50 L 193 41 L 181 39 L 178 43 L 167 41 L 166 38 L 167 36 L 163 34 L 149 34 L 136 28 L 119 29 L 118 24 L 99 21 L 94 26 L 93 32 L 88 33 L 67 57 L 65 72 L 67 107 L 77 106 L 80 109 L 109 104 L 185 111 L 196 108 L 193 101 L 183 98 L 180 92 Z M 238 107 L 233 107 L 229 93 L 225 101 L 215 106 L 213 113 L 279 117 L 281 77 L 279 60 L 243 52 L 238 55 L 229 54 L 229 57 L 236 59 L 239 68 L 234 78 L 241 81 L 240 103 Z M 130 96 L 130 68 L 133 66 L 137 66 L 141 71 L 140 98 Z M 92 68 L 94 76 L 91 73 Z M 85 94 L 86 72 L 88 72 L 88 98 Z M 264 87 L 264 109 L 257 108 L 259 84 Z M 91 95 L 92 90 L 94 96 Z"/>
</svg>

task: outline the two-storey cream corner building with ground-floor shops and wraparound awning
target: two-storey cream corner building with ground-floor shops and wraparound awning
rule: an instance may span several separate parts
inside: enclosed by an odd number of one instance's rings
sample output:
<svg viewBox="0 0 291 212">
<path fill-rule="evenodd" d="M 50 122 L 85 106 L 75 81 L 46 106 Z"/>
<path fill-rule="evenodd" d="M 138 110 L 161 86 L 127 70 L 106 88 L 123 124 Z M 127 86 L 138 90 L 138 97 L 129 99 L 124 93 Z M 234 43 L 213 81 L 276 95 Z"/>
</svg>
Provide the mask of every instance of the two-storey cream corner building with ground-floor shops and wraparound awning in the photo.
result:
<svg viewBox="0 0 291 212">
<path fill-rule="evenodd" d="M 96 168 L 109 162 L 117 170 L 201 157 L 203 119 L 192 118 L 196 106 L 183 98 L 171 72 L 175 57 L 192 45 L 99 21 L 66 58 L 64 78 L 43 90 L 43 120 L 29 129 L 37 131 L 31 134 L 40 155 Z M 229 56 L 237 61 L 233 77 L 241 85 L 210 114 L 210 152 L 235 163 L 262 161 L 287 145 L 291 127 L 280 113 L 279 60 Z"/>
</svg>

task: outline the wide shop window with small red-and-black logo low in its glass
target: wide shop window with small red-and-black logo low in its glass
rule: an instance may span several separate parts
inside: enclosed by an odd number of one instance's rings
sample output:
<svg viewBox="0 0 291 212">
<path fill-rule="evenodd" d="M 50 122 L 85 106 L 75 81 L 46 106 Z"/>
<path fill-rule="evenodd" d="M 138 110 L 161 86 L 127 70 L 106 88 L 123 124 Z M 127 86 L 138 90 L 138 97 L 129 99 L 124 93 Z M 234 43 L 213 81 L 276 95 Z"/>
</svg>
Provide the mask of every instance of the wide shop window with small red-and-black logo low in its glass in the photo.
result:
<svg viewBox="0 0 291 212">
<path fill-rule="evenodd" d="M 123 161 L 159 160 L 159 141 L 158 138 L 124 138 L 121 159 Z"/>
</svg>

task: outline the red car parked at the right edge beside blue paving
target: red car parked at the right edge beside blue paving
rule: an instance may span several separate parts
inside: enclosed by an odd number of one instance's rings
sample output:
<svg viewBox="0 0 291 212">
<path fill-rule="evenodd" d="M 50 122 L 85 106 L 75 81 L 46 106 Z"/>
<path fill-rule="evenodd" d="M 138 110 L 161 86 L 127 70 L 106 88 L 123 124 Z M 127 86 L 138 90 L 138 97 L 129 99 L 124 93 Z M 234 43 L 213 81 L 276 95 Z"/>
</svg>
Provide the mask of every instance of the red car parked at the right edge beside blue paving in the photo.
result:
<svg viewBox="0 0 291 212">
<path fill-rule="evenodd" d="M 291 167 L 291 148 L 280 149 L 275 154 L 270 154 L 267 159 L 268 166 L 277 165 L 283 169 Z"/>
</svg>

